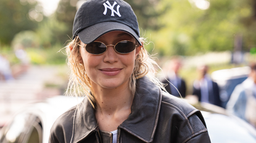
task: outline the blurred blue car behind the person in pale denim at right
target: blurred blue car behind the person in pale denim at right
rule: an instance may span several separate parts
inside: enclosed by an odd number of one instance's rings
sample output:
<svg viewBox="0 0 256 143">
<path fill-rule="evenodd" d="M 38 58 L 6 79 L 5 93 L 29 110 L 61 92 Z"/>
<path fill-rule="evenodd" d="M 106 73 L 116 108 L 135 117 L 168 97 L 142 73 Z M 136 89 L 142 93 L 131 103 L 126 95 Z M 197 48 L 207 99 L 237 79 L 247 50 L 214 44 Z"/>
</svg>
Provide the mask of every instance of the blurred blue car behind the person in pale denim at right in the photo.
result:
<svg viewBox="0 0 256 143">
<path fill-rule="evenodd" d="M 214 82 L 217 82 L 220 88 L 221 107 L 226 108 L 226 104 L 236 87 L 236 85 L 244 82 L 250 73 L 250 67 L 244 66 L 241 68 L 221 69 L 214 71 L 211 77 Z"/>
</svg>

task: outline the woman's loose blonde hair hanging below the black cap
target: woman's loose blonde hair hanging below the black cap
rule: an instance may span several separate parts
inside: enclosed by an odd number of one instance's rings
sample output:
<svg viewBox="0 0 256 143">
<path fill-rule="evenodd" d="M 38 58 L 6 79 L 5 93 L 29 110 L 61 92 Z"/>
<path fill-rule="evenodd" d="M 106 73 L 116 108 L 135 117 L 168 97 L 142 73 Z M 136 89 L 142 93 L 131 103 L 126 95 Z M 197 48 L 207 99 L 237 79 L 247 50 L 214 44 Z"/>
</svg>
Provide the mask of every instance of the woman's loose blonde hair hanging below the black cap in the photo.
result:
<svg viewBox="0 0 256 143">
<path fill-rule="evenodd" d="M 140 38 L 142 43 L 146 42 L 146 39 Z M 68 96 L 87 96 L 91 105 L 95 107 L 96 100 L 94 98 L 93 88 L 91 87 L 91 81 L 86 74 L 85 67 L 83 63 L 81 63 L 81 55 L 80 55 L 80 39 L 79 37 L 75 37 L 72 42 L 70 42 L 66 47 L 67 52 L 67 64 L 70 71 L 70 77 L 68 82 L 67 91 L 65 95 Z M 136 60 L 134 63 L 133 73 L 130 77 L 130 90 L 133 95 L 136 90 L 136 80 L 147 75 L 149 79 L 155 83 L 155 85 L 159 86 L 163 90 L 163 83 L 159 82 L 159 80 L 155 77 L 156 69 L 154 66 L 158 66 L 158 64 L 152 59 L 152 57 L 147 53 L 147 50 L 142 45 L 139 54 L 136 56 Z"/>
</svg>

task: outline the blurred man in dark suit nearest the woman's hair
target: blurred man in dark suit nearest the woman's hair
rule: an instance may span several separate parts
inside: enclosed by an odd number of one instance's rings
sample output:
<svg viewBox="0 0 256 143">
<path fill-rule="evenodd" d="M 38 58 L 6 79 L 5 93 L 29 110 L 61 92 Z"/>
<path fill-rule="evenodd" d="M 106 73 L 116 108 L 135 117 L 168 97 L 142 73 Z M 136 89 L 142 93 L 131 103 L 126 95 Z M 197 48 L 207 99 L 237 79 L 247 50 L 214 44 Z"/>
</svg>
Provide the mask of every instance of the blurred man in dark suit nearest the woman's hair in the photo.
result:
<svg viewBox="0 0 256 143">
<path fill-rule="evenodd" d="M 167 65 L 167 75 L 165 76 L 166 79 L 162 80 L 162 83 L 168 84 L 165 89 L 170 93 L 171 95 L 184 98 L 186 96 L 186 82 L 184 79 L 180 77 L 179 71 L 182 66 L 182 60 L 180 56 L 173 56 L 171 58 L 170 63 Z M 171 85 L 170 83 L 173 85 Z M 180 93 L 177 91 L 180 91 Z"/>
</svg>

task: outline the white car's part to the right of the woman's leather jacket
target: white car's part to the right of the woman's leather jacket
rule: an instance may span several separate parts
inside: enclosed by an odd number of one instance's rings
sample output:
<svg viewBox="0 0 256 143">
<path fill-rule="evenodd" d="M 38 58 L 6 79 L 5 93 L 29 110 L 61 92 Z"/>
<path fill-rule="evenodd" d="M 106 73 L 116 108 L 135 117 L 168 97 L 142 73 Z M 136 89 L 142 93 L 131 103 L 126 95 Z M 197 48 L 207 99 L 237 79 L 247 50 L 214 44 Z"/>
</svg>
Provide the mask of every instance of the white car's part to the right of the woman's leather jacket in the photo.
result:
<svg viewBox="0 0 256 143">
<path fill-rule="evenodd" d="M 204 116 L 212 143 L 256 142 L 256 129 L 241 118 L 213 104 L 194 104 Z"/>
</svg>

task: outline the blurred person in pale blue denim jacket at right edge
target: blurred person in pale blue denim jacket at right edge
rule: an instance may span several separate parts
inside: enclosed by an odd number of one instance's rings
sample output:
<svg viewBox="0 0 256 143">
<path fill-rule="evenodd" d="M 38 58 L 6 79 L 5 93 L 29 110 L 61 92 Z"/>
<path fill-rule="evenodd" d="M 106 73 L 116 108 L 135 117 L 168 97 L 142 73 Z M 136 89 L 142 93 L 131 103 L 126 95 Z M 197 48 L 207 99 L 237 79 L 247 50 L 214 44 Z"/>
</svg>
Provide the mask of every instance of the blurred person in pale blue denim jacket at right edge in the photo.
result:
<svg viewBox="0 0 256 143">
<path fill-rule="evenodd" d="M 234 88 L 226 108 L 256 127 L 256 63 L 250 69 L 249 77 Z"/>
</svg>

